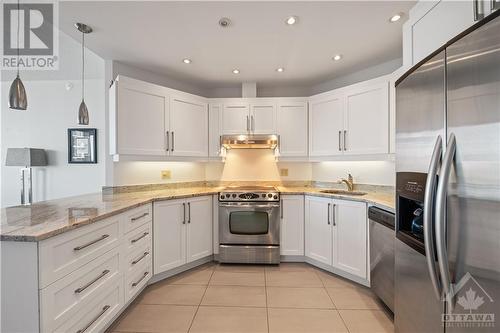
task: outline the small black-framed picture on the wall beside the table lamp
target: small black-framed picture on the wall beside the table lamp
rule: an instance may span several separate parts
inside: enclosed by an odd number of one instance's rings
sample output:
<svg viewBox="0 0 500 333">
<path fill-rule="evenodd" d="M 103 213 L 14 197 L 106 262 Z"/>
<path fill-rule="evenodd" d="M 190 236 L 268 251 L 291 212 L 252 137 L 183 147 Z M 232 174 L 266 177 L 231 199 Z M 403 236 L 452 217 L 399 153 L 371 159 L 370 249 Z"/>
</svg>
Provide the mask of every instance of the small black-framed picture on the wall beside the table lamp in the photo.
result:
<svg viewBox="0 0 500 333">
<path fill-rule="evenodd" d="M 68 163 L 97 163 L 97 129 L 68 128 Z"/>
</svg>

